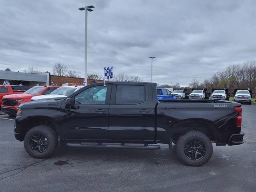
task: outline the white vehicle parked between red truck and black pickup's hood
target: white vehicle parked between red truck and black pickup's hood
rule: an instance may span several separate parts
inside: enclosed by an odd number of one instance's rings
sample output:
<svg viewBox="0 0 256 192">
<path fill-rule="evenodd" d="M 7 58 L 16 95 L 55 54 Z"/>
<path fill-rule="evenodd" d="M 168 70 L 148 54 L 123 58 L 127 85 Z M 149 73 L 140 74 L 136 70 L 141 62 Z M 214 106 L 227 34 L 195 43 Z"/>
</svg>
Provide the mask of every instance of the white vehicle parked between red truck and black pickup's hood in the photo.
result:
<svg viewBox="0 0 256 192">
<path fill-rule="evenodd" d="M 83 87 L 84 86 L 62 86 L 48 95 L 34 96 L 31 98 L 31 101 L 50 98 L 65 98 Z"/>
</svg>

